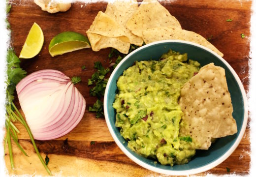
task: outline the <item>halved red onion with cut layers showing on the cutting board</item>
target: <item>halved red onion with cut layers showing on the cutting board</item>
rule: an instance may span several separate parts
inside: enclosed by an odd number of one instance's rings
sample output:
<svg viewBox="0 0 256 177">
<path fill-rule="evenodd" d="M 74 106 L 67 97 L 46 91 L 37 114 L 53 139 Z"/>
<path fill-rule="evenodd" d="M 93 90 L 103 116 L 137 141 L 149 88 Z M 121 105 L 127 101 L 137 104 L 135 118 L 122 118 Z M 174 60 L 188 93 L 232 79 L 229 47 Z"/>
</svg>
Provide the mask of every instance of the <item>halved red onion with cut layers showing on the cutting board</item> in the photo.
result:
<svg viewBox="0 0 256 177">
<path fill-rule="evenodd" d="M 52 140 L 70 132 L 83 118 L 86 102 L 64 73 L 36 71 L 16 86 L 34 139 Z"/>
</svg>

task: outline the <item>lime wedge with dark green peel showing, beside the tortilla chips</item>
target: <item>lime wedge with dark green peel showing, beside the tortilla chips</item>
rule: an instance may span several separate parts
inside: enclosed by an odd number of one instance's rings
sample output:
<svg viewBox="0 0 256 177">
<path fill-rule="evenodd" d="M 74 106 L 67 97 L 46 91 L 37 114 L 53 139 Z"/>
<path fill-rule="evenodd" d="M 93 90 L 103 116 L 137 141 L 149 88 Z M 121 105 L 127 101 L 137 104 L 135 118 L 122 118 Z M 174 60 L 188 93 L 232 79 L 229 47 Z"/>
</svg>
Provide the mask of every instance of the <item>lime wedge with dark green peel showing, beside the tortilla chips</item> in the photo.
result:
<svg viewBox="0 0 256 177">
<path fill-rule="evenodd" d="M 56 35 L 51 40 L 49 53 L 54 57 L 90 47 L 90 42 L 86 36 L 78 32 L 66 31 Z"/>
</svg>

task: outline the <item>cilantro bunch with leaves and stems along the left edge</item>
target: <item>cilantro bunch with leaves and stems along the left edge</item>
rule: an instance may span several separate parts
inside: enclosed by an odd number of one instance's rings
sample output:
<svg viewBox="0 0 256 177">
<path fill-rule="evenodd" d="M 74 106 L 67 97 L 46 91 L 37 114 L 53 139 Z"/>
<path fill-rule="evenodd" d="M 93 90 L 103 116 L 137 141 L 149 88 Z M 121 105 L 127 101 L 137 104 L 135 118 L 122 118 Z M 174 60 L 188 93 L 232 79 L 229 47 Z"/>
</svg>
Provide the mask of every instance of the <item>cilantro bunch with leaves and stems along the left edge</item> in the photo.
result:
<svg viewBox="0 0 256 177">
<path fill-rule="evenodd" d="M 10 11 L 11 5 L 7 3 L 6 7 L 6 12 L 8 13 Z M 9 23 L 6 19 L 7 22 L 7 28 L 9 29 Z M 25 150 L 22 148 L 22 146 L 19 144 L 18 136 L 17 134 L 20 133 L 20 131 L 17 129 L 17 127 L 14 125 L 14 122 L 19 121 L 27 130 L 32 145 L 34 147 L 34 150 L 41 161 L 42 165 L 44 166 L 45 170 L 49 175 L 52 175 L 50 169 L 47 167 L 46 162 L 43 160 L 41 154 L 39 153 L 38 148 L 35 145 L 34 138 L 32 135 L 32 132 L 23 116 L 13 103 L 14 99 L 14 92 L 16 89 L 16 85 L 26 76 L 27 72 L 23 70 L 20 67 L 20 59 L 15 55 L 15 52 L 9 48 L 7 50 L 7 80 L 5 81 L 6 83 L 6 99 L 5 99 L 5 128 L 6 128 L 6 136 L 4 140 L 4 152 L 6 145 L 8 145 L 8 150 L 9 150 L 9 158 L 10 158 L 10 165 L 11 168 L 14 169 L 14 160 L 13 160 L 13 152 L 12 152 L 12 140 L 16 144 L 16 146 L 21 150 L 21 152 L 28 156 L 28 154 L 25 152 Z"/>
</svg>

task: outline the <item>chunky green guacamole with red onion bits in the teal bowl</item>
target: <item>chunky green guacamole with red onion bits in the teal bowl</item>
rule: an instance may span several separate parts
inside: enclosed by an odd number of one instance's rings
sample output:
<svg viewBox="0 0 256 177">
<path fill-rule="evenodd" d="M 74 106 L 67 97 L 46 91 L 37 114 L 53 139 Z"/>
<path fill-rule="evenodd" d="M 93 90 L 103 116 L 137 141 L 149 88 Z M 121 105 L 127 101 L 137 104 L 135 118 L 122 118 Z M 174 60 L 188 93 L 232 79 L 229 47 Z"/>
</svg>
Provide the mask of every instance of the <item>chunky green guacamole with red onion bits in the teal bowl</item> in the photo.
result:
<svg viewBox="0 0 256 177">
<path fill-rule="evenodd" d="M 179 137 L 181 87 L 199 71 L 187 54 L 169 51 L 159 61 L 139 61 L 117 82 L 116 126 L 128 148 L 162 165 L 184 164 L 195 154 L 190 137 Z"/>
</svg>

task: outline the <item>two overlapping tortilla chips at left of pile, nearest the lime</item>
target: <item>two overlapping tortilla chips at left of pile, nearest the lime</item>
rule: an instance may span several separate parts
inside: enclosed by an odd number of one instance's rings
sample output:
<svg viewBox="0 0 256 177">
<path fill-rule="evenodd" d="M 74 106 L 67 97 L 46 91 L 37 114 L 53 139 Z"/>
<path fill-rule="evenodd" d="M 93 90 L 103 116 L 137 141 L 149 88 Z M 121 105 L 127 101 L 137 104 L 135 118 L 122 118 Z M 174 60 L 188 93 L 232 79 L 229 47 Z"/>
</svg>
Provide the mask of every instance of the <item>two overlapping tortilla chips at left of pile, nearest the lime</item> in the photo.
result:
<svg viewBox="0 0 256 177">
<path fill-rule="evenodd" d="M 99 11 L 86 31 L 93 51 L 112 47 L 128 54 L 130 44 L 142 46 L 143 39 L 126 27 L 127 21 L 138 8 L 136 0 L 115 1 L 108 3 L 105 13 Z"/>
</svg>

